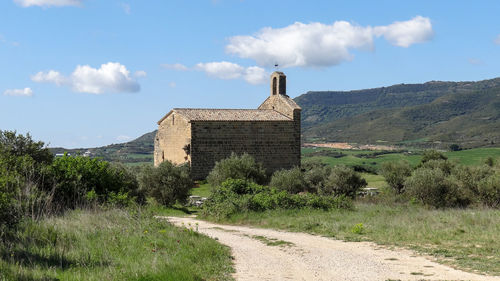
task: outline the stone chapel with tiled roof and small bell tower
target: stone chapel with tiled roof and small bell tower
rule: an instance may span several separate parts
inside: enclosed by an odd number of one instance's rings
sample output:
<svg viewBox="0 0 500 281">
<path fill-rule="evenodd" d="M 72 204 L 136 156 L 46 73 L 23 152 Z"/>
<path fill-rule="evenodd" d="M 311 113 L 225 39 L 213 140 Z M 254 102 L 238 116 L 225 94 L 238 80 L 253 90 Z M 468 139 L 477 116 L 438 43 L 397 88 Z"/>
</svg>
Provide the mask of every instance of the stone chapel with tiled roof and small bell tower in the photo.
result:
<svg viewBox="0 0 500 281">
<path fill-rule="evenodd" d="M 286 94 L 285 74 L 273 72 L 258 109 L 172 109 L 158 121 L 154 164 L 187 162 L 195 180 L 232 152 L 252 155 L 270 173 L 299 166 L 300 111 Z"/>
</svg>

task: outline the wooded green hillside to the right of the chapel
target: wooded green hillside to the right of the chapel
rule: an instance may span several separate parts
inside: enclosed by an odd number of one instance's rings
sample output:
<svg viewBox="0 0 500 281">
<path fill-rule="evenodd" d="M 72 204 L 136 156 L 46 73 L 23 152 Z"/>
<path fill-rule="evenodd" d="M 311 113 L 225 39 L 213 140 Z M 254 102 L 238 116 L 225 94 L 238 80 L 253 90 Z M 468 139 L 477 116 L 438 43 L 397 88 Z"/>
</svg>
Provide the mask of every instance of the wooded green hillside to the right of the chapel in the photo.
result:
<svg viewBox="0 0 500 281">
<path fill-rule="evenodd" d="M 295 100 L 303 108 L 306 141 L 437 148 L 500 142 L 500 78 L 308 92 Z"/>
</svg>

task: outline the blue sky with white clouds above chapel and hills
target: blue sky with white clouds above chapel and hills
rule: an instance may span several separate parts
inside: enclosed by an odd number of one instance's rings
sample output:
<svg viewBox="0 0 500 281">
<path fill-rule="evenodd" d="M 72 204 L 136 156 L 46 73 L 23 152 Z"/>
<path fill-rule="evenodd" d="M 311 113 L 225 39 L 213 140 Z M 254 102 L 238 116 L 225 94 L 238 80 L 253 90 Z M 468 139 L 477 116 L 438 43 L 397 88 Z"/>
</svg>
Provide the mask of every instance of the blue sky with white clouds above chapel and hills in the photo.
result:
<svg viewBox="0 0 500 281">
<path fill-rule="evenodd" d="M 93 147 L 174 107 L 500 76 L 500 1 L 0 1 L 0 129 Z"/>
</svg>

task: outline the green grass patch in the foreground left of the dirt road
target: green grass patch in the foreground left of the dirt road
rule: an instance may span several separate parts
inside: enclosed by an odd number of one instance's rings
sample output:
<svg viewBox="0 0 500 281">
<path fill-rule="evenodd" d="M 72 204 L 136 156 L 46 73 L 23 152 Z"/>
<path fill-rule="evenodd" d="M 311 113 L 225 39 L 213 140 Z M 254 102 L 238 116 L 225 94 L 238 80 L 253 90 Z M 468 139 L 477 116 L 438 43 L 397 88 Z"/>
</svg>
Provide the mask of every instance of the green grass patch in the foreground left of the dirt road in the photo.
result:
<svg viewBox="0 0 500 281">
<path fill-rule="evenodd" d="M 228 280 L 227 247 L 150 210 L 74 211 L 0 245 L 0 280 Z"/>
</svg>

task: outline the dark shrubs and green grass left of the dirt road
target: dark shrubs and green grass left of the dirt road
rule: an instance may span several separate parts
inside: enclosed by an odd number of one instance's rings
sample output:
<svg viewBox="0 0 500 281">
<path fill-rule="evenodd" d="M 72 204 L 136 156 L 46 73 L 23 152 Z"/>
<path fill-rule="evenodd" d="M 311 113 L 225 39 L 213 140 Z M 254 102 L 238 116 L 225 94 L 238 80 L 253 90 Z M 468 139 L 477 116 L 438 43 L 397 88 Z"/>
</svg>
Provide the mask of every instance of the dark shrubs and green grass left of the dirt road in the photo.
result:
<svg viewBox="0 0 500 281">
<path fill-rule="evenodd" d="M 0 280 L 231 279 L 227 247 L 153 217 L 191 187 L 186 167 L 54 159 L 0 131 Z"/>
</svg>

